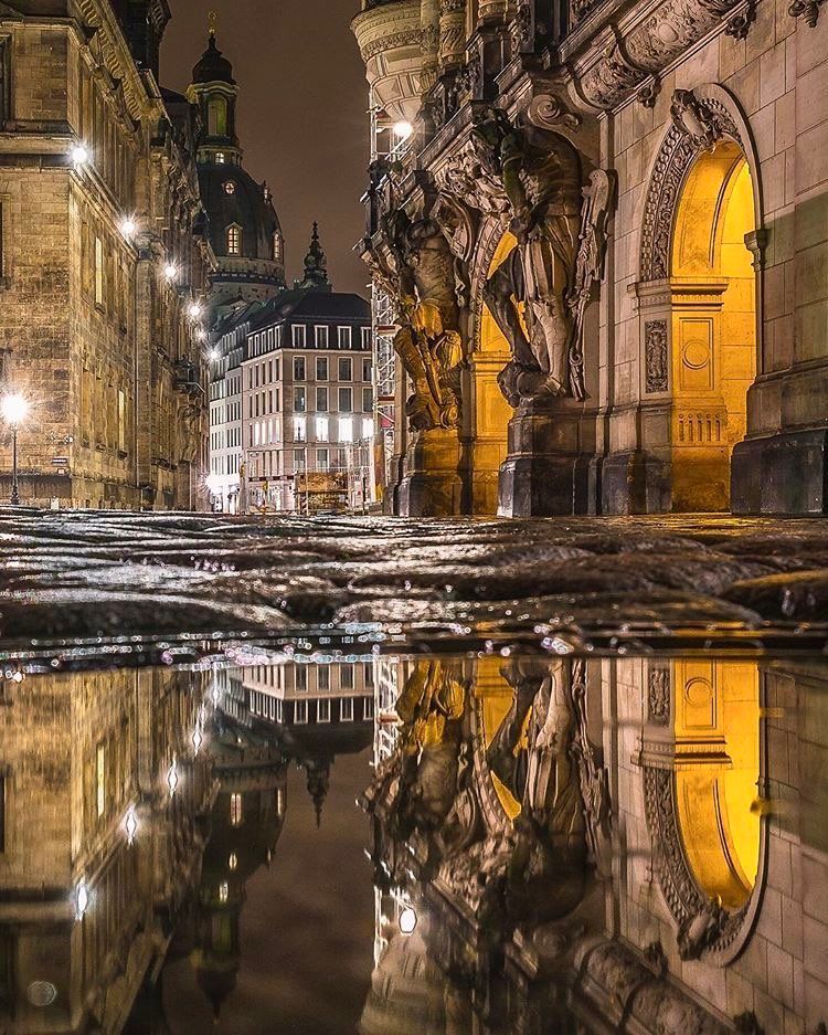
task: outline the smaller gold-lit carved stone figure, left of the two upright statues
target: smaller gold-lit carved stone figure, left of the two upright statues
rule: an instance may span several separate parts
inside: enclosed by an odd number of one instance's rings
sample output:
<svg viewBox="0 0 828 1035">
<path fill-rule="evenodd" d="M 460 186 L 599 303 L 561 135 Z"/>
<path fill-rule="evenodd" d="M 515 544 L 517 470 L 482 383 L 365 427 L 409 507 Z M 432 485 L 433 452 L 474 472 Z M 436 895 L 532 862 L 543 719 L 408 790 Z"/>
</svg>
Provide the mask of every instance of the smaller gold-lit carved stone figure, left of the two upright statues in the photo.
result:
<svg viewBox="0 0 828 1035">
<path fill-rule="evenodd" d="M 464 361 L 463 271 L 439 224 L 395 209 L 382 216 L 384 247 L 369 250 L 374 274 L 394 299 L 400 330 L 394 348 L 414 390 L 406 402 L 414 431 L 459 423 Z"/>
</svg>

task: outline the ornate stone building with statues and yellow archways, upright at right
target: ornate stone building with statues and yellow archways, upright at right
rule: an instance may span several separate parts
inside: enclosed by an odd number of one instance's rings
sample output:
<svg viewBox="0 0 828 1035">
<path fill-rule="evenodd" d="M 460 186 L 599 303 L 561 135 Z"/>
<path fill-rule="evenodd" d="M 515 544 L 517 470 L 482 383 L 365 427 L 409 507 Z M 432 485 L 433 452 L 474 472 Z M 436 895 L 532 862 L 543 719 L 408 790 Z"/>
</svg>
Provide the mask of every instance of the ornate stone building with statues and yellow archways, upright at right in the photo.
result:
<svg viewBox="0 0 828 1035">
<path fill-rule="evenodd" d="M 389 509 L 826 513 L 821 7 L 368 0 Z"/>
</svg>

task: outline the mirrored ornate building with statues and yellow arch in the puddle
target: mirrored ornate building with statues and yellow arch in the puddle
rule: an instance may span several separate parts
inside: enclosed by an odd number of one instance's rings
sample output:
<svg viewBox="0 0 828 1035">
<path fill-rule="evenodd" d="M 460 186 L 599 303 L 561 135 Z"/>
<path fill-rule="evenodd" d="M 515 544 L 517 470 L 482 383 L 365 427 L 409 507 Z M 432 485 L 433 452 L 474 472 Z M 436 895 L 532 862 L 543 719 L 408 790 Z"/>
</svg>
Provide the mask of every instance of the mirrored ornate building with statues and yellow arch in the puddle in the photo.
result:
<svg viewBox="0 0 828 1035">
<path fill-rule="evenodd" d="M 395 665 L 363 1035 L 824 1031 L 824 666 Z"/>
</svg>

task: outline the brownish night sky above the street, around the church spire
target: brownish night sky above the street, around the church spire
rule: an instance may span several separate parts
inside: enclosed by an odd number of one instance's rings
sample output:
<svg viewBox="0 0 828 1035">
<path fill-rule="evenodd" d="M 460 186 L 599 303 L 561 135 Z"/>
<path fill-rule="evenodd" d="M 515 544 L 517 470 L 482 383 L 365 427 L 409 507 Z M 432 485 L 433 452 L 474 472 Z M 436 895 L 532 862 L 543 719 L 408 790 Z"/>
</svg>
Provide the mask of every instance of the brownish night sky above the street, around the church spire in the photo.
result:
<svg viewBox="0 0 828 1035">
<path fill-rule="evenodd" d="M 368 84 L 350 30 L 360 0 L 170 0 L 161 80 L 184 91 L 206 46 L 208 12 L 241 88 L 244 166 L 266 180 L 285 233 L 288 282 L 298 276 L 316 219 L 338 291 L 367 295 L 352 254 L 369 161 Z"/>
</svg>

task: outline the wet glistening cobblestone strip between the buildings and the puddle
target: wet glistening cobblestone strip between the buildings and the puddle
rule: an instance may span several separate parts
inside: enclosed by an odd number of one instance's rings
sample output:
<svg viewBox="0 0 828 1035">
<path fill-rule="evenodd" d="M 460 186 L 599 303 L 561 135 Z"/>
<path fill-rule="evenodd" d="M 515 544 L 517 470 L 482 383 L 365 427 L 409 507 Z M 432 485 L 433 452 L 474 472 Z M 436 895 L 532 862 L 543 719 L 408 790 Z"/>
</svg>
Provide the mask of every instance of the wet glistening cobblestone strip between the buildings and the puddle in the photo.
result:
<svg viewBox="0 0 828 1035">
<path fill-rule="evenodd" d="M 828 527 L 0 511 L 0 637 L 821 635 Z"/>
</svg>

